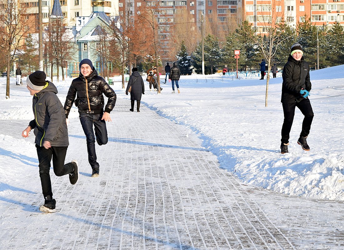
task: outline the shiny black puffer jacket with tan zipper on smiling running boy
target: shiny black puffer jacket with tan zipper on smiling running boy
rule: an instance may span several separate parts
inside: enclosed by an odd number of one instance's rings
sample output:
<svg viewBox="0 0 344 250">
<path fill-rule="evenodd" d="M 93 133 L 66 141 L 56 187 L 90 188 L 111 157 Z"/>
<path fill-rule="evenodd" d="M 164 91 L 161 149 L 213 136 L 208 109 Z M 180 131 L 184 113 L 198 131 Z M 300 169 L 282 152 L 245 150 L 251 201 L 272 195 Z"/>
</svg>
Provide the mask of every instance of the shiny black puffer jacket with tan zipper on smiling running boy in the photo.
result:
<svg viewBox="0 0 344 250">
<path fill-rule="evenodd" d="M 115 91 L 110 88 L 103 77 L 98 76 L 94 67 L 86 78 L 80 73 L 79 77 L 72 81 L 68 90 L 64 105 L 66 118 L 68 118 L 73 102 L 78 107 L 79 113 L 99 114 L 104 107 L 103 93 L 108 98 L 105 112 L 110 113 L 116 104 Z"/>
</svg>

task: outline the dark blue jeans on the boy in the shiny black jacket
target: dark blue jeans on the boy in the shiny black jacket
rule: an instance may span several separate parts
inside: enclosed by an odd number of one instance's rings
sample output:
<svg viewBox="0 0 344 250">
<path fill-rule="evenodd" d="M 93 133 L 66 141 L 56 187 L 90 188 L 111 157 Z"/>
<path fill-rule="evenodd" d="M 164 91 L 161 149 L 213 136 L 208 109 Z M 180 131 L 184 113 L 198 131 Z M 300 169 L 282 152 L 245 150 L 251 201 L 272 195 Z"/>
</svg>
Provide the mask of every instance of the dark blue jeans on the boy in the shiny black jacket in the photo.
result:
<svg viewBox="0 0 344 250">
<path fill-rule="evenodd" d="M 103 117 L 103 112 L 101 112 L 100 114 L 79 114 L 80 123 L 86 135 L 88 162 L 91 165 L 92 169 L 99 168 L 99 163 L 97 162 L 95 141 L 97 140 L 97 143 L 100 146 L 107 144 L 108 142 L 106 123 L 105 120 L 101 120 L 101 117 Z M 93 126 L 96 137 L 94 136 Z"/>
</svg>

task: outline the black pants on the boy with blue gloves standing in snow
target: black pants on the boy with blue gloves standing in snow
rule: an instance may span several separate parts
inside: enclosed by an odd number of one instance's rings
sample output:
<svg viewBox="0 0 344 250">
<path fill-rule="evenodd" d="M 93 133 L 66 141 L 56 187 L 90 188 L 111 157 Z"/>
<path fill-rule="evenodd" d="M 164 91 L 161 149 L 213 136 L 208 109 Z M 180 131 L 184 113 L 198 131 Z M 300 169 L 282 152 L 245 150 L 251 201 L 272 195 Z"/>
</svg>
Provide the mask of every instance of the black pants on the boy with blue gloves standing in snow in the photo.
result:
<svg viewBox="0 0 344 250">
<path fill-rule="evenodd" d="M 298 107 L 299 110 L 304 115 L 300 136 L 302 137 L 308 136 L 309 130 L 311 129 L 313 117 L 314 117 L 311 102 L 309 101 L 309 99 L 307 98 L 300 102 L 295 102 L 295 103 L 282 103 L 282 106 L 283 106 L 284 121 L 282 125 L 281 142 L 285 144 L 289 143 L 289 133 L 291 130 L 291 126 L 293 125 L 295 107 Z"/>
</svg>

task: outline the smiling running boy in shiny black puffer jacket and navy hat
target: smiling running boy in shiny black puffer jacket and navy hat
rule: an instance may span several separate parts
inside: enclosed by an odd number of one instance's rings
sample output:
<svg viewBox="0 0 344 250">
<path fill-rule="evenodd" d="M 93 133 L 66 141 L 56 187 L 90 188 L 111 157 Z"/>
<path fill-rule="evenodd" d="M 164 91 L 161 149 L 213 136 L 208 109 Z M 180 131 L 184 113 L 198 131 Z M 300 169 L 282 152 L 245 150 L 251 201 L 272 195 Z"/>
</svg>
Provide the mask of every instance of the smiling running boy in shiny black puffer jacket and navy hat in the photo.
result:
<svg viewBox="0 0 344 250">
<path fill-rule="evenodd" d="M 92 167 L 92 177 L 98 177 L 99 163 L 97 162 L 95 141 L 99 146 L 108 142 L 105 121 L 111 121 L 110 112 L 115 107 L 116 93 L 103 77 L 98 76 L 91 60 L 81 60 L 79 69 L 80 75 L 72 81 L 64 105 L 66 122 L 68 123 L 68 114 L 74 102 L 78 107 L 80 123 L 86 135 L 88 162 Z M 105 110 L 103 110 L 103 94 L 108 98 Z"/>
</svg>

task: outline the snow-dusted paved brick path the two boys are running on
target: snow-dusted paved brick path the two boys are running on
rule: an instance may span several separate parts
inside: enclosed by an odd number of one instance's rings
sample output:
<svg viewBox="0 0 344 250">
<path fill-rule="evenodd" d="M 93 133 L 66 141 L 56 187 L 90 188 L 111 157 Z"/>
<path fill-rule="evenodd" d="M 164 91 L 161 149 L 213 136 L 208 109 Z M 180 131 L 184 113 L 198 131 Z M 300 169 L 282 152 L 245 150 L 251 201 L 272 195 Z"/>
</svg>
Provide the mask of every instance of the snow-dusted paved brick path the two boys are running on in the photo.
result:
<svg viewBox="0 0 344 250">
<path fill-rule="evenodd" d="M 1 249 L 343 249 L 343 202 L 245 185 L 189 129 L 129 105 L 118 99 L 109 143 L 96 145 L 99 178 L 71 119 L 66 161 L 79 162 L 80 177 L 73 186 L 51 171 L 53 214 L 38 210 L 33 134 L 30 143 L 20 136 L 26 121 L 1 121 L 14 145 L 5 136 L 0 153 L 18 166 L 1 185 Z"/>
</svg>

